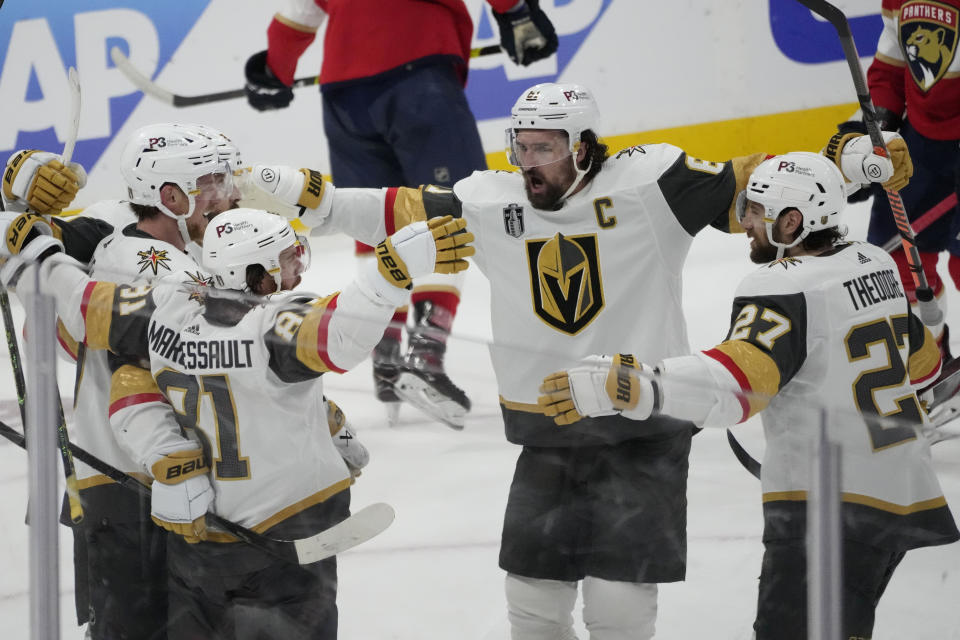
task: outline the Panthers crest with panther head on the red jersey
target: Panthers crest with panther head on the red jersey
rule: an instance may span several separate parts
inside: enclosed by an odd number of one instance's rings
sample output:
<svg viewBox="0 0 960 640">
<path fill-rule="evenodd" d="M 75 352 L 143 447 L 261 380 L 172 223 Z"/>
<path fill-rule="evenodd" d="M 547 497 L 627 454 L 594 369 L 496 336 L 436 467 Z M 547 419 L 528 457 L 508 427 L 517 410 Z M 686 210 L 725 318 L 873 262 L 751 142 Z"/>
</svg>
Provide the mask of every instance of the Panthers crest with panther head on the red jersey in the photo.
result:
<svg viewBox="0 0 960 640">
<path fill-rule="evenodd" d="M 957 48 L 956 7 L 920 0 L 900 9 L 900 43 L 914 82 L 923 91 L 947 72 Z"/>
</svg>

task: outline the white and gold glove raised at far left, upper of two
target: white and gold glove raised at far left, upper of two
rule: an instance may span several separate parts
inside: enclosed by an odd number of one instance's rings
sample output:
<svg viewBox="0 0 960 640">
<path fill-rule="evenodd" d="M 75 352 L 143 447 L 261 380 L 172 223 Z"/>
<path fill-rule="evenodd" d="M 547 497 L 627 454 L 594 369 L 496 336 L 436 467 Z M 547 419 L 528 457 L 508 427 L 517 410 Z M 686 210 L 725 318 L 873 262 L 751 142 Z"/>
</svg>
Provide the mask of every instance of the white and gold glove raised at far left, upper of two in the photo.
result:
<svg viewBox="0 0 960 640">
<path fill-rule="evenodd" d="M 42 215 L 57 215 L 86 183 L 87 174 L 78 163 L 64 166 L 56 154 L 26 149 L 7 160 L 3 200 L 10 210 L 29 208 Z"/>
</svg>

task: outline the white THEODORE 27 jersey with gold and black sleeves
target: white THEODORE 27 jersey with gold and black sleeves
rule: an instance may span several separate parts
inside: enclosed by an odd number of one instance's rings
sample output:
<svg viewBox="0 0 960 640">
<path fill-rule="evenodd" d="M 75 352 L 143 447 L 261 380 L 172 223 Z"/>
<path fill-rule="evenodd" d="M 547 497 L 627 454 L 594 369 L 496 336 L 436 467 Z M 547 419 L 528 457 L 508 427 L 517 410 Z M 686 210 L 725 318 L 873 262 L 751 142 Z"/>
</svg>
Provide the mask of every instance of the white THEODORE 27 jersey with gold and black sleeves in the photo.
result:
<svg viewBox="0 0 960 640">
<path fill-rule="evenodd" d="M 846 243 L 761 267 L 737 288 L 726 341 L 659 367 L 664 412 L 694 418 L 705 402 L 699 421 L 726 426 L 763 411 L 765 539 L 805 533 L 822 409 L 841 447 L 845 537 L 894 549 L 957 539 L 916 431 L 927 417 L 913 385 L 937 375 L 940 352 L 882 249 Z"/>
</svg>

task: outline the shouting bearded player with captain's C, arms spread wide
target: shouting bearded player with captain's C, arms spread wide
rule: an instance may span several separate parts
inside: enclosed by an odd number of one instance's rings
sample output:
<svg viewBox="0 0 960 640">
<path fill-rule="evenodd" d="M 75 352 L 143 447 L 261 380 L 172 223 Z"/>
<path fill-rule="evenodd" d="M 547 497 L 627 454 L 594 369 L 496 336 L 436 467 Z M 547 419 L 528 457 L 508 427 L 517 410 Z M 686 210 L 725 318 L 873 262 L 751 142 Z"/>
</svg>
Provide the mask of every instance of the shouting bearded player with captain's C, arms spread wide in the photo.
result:
<svg viewBox="0 0 960 640">
<path fill-rule="evenodd" d="M 683 579 L 692 424 L 657 416 L 638 431 L 614 415 L 558 429 L 537 404 L 538 387 L 593 353 L 634 350 L 650 361 L 688 353 L 680 307 L 687 251 L 707 226 L 741 230 L 736 194 L 766 157 L 705 162 L 655 144 L 608 158 L 598 127 L 588 90 L 536 85 L 517 100 L 507 132 L 520 173 L 478 171 L 452 190 L 337 189 L 323 198 L 325 212 L 386 211 L 394 222 L 462 216 L 476 235 L 506 435 L 523 446 L 500 554 L 518 640 L 572 638 L 580 581 L 594 640 L 649 638 L 656 583 Z M 865 137 L 834 150 L 836 160 L 856 182 L 866 181 L 866 165 L 902 184 L 909 155 L 888 138 L 904 151 L 894 166 L 872 155 Z M 302 174 L 270 175 L 280 177 L 264 188 L 295 203 L 300 188 L 280 183 L 293 176 L 302 185 Z M 291 214 L 314 227 L 309 208 Z"/>
</svg>

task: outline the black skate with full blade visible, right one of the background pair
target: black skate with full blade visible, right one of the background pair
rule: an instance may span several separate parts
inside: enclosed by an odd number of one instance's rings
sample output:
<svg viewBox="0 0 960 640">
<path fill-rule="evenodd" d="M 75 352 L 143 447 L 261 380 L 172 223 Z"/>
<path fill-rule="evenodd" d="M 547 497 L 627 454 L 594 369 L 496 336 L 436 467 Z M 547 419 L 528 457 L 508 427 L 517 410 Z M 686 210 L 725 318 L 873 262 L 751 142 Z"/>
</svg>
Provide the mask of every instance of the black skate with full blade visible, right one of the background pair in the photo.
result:
<svg viewBox="0 0 960 640">
<path fill-rule="evenodd" d="M 470 399 L 443 370 L 449 332 L 434 317 L 442 310 L 429 301 L 414 308 L 416 322 L 410 331 L 409 349 L 400 365 L 394 392 L 451 429 L 463 429 Z"/>
</svg>

